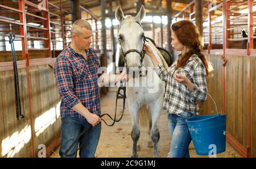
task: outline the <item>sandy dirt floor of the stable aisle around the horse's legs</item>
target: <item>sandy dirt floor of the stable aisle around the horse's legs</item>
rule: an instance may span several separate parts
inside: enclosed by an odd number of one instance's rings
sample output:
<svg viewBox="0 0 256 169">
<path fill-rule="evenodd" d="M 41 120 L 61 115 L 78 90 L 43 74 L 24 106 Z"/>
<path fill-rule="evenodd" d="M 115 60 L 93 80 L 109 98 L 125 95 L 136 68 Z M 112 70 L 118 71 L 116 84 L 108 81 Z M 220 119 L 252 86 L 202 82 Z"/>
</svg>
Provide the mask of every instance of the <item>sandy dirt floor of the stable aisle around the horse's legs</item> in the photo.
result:
<svg viewBox="0 0 256 169">
<path fill-rule="evenodd" d="M 109 113 L 112 117 L 114 115 L 115 108 L 115 95 L 117 88 L 110 87 L 108 95 L 101 98 L 101 111 L 102 113 Z M 122 112 L 122 100 L 118 100 L 118 115 Z M 119 116 L 118 116 L 119 117 Z M 111 121 L 107 117 L 106 122 Z M 167 125 L 167 113 L 162 112 L 159 121 L 160 140 L 158 143 L 159 157 L 167 157 L 168 150 L 170 149 L 170 136 Z M 102 123 L 100 142 L 98 143 L 96 157 L 131 157 L 131 147 L 133 141 L 131 140 L 131 120 L 129 109 L 126 104 L 125 113 L 123 119 L 114 126 L 107 126 Z M 153 149 L 148 147 L 148 129 L 141 128 L 141 136 L 139 138 L 140 151 L 138 151 L 138 157 L 152 157 Z M 191 157 L 208 158 L 208 156 L 197 155 L 193 143 L 189 146 L 189 153 Z M 59 157 L 59 148 L 53 152 L 51 157 Z M 217 157 L 241 157 L 232 146 L 226 142 L 226 151 L 224 153 L 217 154 Z"/>
</svg>

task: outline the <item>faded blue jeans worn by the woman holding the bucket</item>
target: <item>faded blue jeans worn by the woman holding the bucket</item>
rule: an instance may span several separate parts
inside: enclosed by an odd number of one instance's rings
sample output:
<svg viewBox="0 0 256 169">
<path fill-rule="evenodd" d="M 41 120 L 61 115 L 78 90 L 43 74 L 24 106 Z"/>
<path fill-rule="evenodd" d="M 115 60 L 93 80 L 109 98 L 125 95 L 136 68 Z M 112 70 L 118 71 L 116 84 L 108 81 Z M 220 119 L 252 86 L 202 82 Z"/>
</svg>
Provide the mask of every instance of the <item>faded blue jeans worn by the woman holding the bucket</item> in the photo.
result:
<svg viewBox="0 0 256 169">
<path fill-rule="evenodd" d="M 190 112 L 168 113 L 168 127 L 171 136 L 171 147 L 168 157 L 189 158 L 188 146 L 192 138 L 185 120 L 192 116 L 195 115 Z"/>
</svg>

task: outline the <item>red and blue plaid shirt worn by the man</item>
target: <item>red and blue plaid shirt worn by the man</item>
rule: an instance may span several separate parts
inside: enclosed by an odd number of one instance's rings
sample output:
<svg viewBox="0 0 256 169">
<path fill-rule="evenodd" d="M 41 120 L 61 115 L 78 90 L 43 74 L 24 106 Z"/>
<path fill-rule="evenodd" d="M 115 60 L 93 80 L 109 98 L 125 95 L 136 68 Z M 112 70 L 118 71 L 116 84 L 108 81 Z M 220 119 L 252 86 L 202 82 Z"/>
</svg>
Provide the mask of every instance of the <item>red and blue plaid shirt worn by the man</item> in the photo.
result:
<svg viewBox="0 0 256 169">
<path fill-rule="evenodd" d="M 72 107 L 82 103 L 91 113 L 101 114 L 98 89 L 100 63 L 96 52 L 90 48 L 87 61 L 69 45 L 56 59 L 54 73 L 61 96 L 60 115 L 85 119 Z"/>
</svg>

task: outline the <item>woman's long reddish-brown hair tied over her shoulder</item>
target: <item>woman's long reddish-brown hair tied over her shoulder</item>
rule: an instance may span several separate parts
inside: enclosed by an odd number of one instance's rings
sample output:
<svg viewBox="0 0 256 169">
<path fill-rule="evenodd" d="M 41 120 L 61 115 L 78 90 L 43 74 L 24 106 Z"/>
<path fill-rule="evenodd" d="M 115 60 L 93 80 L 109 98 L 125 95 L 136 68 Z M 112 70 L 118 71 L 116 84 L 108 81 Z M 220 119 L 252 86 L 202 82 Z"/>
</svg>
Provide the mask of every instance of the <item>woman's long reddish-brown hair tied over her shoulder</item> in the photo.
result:
<svg viewBox="0 0 256 169">
<path fill-rule="evenodd" d="M 202 37 L 198 27 L 191 20 L 180 20 L 172 24 L 171 30 L 175 32 L 177 39 L 181 44 L 188 47 L 187 53 L 183 53 L 177 61 L 177 68 L 183 67 L 192 54 L 197 54 L 205 66 L 207 75 L 209 73 L 207 58 L 204 56 Z"/>
</svg>

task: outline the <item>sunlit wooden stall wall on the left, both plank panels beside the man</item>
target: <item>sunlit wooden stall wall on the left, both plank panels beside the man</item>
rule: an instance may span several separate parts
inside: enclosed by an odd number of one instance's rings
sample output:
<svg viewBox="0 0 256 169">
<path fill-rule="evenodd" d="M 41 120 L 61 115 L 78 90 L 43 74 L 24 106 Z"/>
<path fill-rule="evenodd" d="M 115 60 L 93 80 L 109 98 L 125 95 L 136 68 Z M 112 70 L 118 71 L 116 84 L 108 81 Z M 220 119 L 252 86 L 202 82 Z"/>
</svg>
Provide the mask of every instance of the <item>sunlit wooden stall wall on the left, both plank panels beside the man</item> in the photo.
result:
<svg viewBox="0 0 256 169">
<path fill-rule="evenodd" d="M 20 101 L 25 116 L 22 120 L 16 118 L 14 71 L 0 72 L 0 157 L 38 157 L 42 146 L 49 150 L 59 143 L 60 98 L 52 66 L 32 66 L 29 76 L 32 125 L 26 69 L 19 69 Z"/>
</svg>

